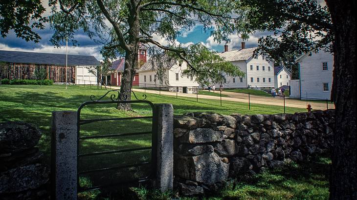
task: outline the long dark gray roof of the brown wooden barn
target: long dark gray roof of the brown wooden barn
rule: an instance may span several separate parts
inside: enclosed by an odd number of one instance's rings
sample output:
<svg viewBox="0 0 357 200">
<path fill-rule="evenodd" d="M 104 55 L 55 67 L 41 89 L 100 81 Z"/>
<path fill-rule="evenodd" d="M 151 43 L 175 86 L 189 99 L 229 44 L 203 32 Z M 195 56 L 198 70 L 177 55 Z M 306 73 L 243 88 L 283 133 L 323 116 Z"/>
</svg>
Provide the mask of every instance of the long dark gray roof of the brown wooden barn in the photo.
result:
<svg viewBox="0 0 357 200">
<path fill-rule="evenodd" d="M 66 54 L 49 54 L 0 50 L 0 61 L 11 63 L 66 65 Z M 69 66 L 96 66 L 100 62 L 94 56 L 68 55 Z"/>
</svg>

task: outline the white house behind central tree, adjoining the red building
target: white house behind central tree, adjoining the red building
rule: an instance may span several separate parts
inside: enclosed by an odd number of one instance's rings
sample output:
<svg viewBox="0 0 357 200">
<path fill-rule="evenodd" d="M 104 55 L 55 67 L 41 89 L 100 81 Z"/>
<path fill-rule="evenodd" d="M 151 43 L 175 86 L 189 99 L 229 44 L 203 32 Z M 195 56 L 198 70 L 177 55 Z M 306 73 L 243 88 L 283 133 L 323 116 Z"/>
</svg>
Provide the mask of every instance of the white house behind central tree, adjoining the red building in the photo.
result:
<svg viewBox="0 0 357 200">
<path fill-rule="evenodd" d="M 162 65 L 163 82 L 160 82 L 157 77 L 158 65 Z M 187 68 L 186 62 L 179 62 L 170 60 L 168 58 L 161 58 L 160 63 L 156 60 L 149 59 L 138 70 L 139 73 L 139 87 L 161 87 L 161 89 L 169 90 L 171 92 L 180 93 L 196 93 L 196 88 L 199 84 L 194 77 L 182 76 L 182 72 Z"/>
</svg>

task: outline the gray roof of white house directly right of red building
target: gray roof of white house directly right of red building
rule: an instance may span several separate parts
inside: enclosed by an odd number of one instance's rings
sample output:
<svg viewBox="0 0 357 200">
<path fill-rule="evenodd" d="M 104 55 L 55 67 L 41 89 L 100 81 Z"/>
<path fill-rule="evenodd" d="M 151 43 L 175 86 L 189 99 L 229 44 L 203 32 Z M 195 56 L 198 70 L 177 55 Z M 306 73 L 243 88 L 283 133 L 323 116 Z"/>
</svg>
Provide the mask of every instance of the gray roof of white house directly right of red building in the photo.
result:
<svg viewBox="0 0 357 200">
<path fill-rule="evenodd" d="M 140 71 L 153 71 L 157 70 L 161 65 L 162 68 L 170 69 L 172 66 L 176 64 L 176 60 L 171 59 L 167 56 L 162 56 L 160 58 L 150 58 L 147 62 L 145 62 L 140 68 Z"/>
</svg>

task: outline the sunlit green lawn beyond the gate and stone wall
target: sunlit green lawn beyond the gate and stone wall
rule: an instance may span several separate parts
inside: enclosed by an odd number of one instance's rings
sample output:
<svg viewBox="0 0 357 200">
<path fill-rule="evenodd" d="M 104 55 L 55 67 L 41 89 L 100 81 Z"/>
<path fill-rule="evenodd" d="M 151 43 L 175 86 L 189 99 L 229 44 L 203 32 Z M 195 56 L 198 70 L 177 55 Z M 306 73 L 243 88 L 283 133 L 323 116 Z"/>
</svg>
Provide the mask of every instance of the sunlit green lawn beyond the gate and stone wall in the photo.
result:
<svg viewBox="0 0 357 200">
<path fill-rule="evenodd" d="M 38 126 L 43 136 L 39 142 L 39 148 L 46 155 L 49 162 L 50 155 L 50 124 L 52 111 L 71 110 L 77 111 L 78 107 L 84 102 L 89 101 L 90 95 L 95 95 L 96 98 L 101 97 L 107 91 L 95 89 L 96 87 L 78 87 L 69 86 L 65 90 L 64 85 L 1 85 L 0 86 L 0 121 L 15 121 L 21 120 L 30 122 Z M 143 93 L 136 93 L 137 97 L 142 97 Z M 147 100 L 153 103 L 172 103 L 176 115 L 187 112 L 217 112 L 220 114 L 229 115 L 232 113 L 241 114 L 273 114 L 283 112 L 282 106 L 268 106 L 262 104 L 251 104 L 251 110 L 248 110 L 247 103 L 239 103 L 232 101 L 222 101 L 220 106 L 219 100 L 206 100 L 196 98 L 184 98 L 175 96 L 164 96 L 156 94 L 146 94 Z M 103 100 L 108 100 L 103 99 Z M 145 104 L 133 104 L 133 112 L 120 111 L 115 108 L 115 104 L 89 105 L 83 108 L 81 119 L 94 118 L 121 118 L 134 116 L 150 116 L 151 108 Z M 305 112 L 305 109 L 286 107 L 287 113 Z M 101 121 L 81 125 L 80 136 L 95 136 L 118 133 L 134 133 L 150 131 L 151 120 L 121 120 L 121 121 Z M 121 150 L 128 148 L 140 148 L 151 146 L 151 134 L 126 136 L 120 138 L 101 138 L 90 139 L 80 142 L 79 151 L 83 153 L 94 153 L 110 150 Z M 127 153 L 107 154 L 102 156 L 83 157 L 79 160 L 79 170 L 92 170 L 103 167 L 115 167 L 125 164 L 136 164 L 149 161 L 151 150 L 142 150 Z M 116 177 L 128 176 L 129 178 L 142 177 L 147 173 L 149 167 L 128 168 L 113 173 L 108 171 L 108 176 L 104 173 L 101 176 L 86 175 L 81 177 L 81 182 L 84 185 L 108 183 L 106 177 L 111 177 L 111 180 L 116 180 Z M 94 182 L 91 182 L 95 180 Z"/>
</svg>

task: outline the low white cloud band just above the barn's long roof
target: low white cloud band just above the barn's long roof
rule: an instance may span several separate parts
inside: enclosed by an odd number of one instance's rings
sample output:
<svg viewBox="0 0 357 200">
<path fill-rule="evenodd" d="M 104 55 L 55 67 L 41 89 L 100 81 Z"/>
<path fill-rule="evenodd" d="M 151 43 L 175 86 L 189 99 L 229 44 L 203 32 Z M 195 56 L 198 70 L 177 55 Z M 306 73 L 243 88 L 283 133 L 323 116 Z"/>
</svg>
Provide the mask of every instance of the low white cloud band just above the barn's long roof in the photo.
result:
<svg viewBox="0 0 357 200">
<path fill-rule="evenodd" d="M 0 43 L 1 50 L 8 51 L 25 51 L 25 52 L 40 52 L 40 53 L 55 53 L 55 54 L 66 54 L 66 47 L 56 48 L 50 45 L 40 45 L 40 47 L 33 49 L 25 49 L 21 47 L 9 47 L 6 44 Z M 97 60 L 102 60 L 102 55 L 99 53 L 98 46 L 68 46 L 68 54 L 71 55 L 83 55 L 83 56 L 94 56 Z"/>
</svg>

